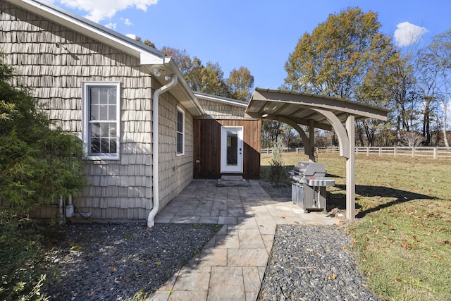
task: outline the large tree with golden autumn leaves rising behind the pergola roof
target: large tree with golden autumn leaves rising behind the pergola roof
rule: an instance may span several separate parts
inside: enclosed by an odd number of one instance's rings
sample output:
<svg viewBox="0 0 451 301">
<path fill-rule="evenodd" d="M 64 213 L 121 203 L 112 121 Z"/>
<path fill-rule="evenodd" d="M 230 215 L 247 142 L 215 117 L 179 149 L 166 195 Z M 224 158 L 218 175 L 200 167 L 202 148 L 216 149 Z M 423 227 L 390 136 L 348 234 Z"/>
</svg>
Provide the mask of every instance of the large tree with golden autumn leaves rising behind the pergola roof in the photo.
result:
<svg viewBox="0 0 451 301">
<path fill-rule="evenodd" d="M 347 8 L 330 15 L 311 34 L 306 32 L 299 39 L 285 63 L 285 88 L 387 108 L 390 99 L 385 91 L 390 83 L 380 73 L 387 75 L 387 70 L 392 70 L 387 66 L 396 63 L 399 54 L 390 37 L 380 30 L 377 14 L 372 11 Z M 365 133 L 366 143 L 372 145 L 381 123 L 366 120 L 357 125 L 361 128 L 357 133 Z"/>
</svg>

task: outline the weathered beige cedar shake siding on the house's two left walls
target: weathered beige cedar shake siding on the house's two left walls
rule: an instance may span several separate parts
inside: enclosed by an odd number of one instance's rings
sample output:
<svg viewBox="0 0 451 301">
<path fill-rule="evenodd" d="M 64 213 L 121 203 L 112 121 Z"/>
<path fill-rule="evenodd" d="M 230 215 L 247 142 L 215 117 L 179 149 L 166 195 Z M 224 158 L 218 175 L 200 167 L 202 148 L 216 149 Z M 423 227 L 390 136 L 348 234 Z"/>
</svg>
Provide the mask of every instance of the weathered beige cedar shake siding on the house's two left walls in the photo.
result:
<svg viewBox="0 0 451 301">
<path fill-rule="evenodd" d="M 74 198 L 75 212 L 93 220 L 145 220 L 152 209 L 152 94 L 159 88 L 140 59 L 0 1 L 0 52 L 63 130 L 82 138 L 83 82 L 120 83 L 120 157 L 84 161 L 90 185 Z M 56 47 L 56 43 L 59 47 Z M 192 179 L 193 118 L 185 110 L 185 154 L 175 153 L 178 101 L 159 100 L 161 207 Z M 52 218 L 54 200 L 35 216 Z"/>
</svg>

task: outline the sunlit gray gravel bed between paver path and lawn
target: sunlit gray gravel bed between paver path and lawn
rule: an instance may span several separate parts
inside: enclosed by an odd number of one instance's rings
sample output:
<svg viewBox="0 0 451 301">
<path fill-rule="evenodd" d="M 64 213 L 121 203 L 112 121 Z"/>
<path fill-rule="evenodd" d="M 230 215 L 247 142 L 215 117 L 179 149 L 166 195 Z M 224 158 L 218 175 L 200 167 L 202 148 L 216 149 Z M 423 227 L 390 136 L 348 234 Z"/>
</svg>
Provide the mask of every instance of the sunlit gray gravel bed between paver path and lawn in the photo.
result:
<svg viewBox="0 0 451 301">
<path fill-rule="evenodd" d="M 258 300 L 377 300 L 349 244 L 335 226 L 279 225 Z"/>
</svg>

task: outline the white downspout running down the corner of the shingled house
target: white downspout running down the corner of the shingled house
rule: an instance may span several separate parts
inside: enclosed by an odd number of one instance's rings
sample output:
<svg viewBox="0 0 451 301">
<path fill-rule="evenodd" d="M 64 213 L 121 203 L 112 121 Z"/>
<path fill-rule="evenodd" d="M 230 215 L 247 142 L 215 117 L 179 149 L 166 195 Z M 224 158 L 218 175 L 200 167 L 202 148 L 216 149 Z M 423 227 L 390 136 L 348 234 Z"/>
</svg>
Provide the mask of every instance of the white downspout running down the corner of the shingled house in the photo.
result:
<svg viewBox="0 0 451 301">
<path fill-rule="evenodd" d="M 153 192 L 153 200 L 154 200 L 154 207 L 152 207 L 152 210 L 149 212 L 149 216 L 147 216 L 147 227 L 152 228 L 155 225 L 155 216 L 158 212 L 159 205 L 160 205 L 160 199 L 159 199 L 159 189 L 158 189 L 158 182 L 159 182 L 159 176 L 158 176 L 158 104 L 159 104 L 159 97 L 160 94 L 163 92 L 166 92 L 170 90 L 172 87 L 177 84 L 177 75 L 173 74 L 171 82 L 168 83 L 168 85 L 164 85 L 163 87 L 159 88 L 154 92 L 154 95 L 152 97 L 152 192 Z"/>
</svg>

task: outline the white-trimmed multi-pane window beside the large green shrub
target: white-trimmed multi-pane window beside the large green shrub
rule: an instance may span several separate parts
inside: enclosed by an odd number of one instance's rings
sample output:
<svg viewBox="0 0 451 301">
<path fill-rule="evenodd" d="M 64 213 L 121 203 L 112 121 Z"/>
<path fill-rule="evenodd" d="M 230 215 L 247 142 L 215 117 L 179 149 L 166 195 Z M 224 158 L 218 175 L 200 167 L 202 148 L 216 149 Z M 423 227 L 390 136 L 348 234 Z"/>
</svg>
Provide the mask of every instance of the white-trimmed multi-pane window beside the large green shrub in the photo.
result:
<svg viewBox="0 0 451 301">
<path fill-rule="evenodd" d="M 120 82 L 83 82 L 83 145 L 89 159 L 119 159 Z"/>
</svg>

